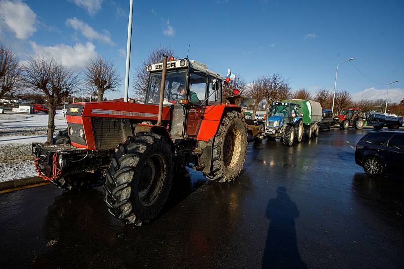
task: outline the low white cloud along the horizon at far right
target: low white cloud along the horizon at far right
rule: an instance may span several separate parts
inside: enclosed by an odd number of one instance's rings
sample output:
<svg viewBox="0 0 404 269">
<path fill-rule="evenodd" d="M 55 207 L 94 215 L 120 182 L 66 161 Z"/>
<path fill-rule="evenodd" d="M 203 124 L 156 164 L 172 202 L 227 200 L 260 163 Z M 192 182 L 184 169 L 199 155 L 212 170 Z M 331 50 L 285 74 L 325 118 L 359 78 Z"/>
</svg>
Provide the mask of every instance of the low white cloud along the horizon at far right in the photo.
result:
<svg viewBox="0 0 404 269">
<path fill-rule="evenodd" d="M 376 89 L 374 87 L 352 94 L 352 98 L 356 101 L 362 99 L 378 100 L 386 99 L 387 89 Z M 404 89 L 393 88 L 388 90 L 388 99 L 393 103 L 399 103 L 404 97 Z"/>
</svg>

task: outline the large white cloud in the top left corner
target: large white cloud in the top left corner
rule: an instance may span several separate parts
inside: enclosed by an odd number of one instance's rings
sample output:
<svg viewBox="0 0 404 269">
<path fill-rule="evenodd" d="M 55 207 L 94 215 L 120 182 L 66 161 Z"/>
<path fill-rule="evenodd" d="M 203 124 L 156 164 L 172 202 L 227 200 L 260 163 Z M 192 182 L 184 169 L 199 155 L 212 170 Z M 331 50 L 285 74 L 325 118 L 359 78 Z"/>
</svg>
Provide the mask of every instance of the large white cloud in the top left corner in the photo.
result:
<svg viewBox="0 0 404 269">
<path fill-rule="evenodd" d="M 36 32 L 35 21 L 36 14 L 27 4 L 19 0 L 0 2 L 0 31 L 4 27 L 18 39 L 26 39 Z"/>
</svg>

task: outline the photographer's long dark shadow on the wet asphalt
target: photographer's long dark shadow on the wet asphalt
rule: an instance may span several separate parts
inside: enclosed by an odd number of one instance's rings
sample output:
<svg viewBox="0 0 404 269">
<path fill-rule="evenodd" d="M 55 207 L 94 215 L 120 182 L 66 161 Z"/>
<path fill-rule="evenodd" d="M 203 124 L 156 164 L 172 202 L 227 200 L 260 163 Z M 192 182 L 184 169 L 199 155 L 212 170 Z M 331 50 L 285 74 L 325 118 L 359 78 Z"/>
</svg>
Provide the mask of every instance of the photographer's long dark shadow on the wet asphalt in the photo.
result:
<svg viewBox="0 0 404 269">
<path fill-rule="evenodd" d="M 276 192 L 276 198 L 269 200 L 266 211 L 271 223 L 262 268 L 307 268 L 297 248 L 294 219 L 299 217 L 299 211 L 285 187 L 278 187 Z"/>
</svg>

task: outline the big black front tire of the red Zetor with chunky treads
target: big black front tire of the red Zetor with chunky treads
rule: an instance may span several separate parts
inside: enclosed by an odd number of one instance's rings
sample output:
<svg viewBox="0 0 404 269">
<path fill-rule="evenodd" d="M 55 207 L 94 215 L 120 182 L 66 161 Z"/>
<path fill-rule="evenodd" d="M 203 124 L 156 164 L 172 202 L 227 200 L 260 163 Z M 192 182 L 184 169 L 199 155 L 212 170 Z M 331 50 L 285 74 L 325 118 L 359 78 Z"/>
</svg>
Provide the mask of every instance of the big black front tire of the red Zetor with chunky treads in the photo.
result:
<svg viewBox="0 0 404 269">
<path fill-rule="evenodd" d="M 144 132 L 128 138 L 106 170 L 108 211 L 126 224 L 150 222 L 167 200 L 173 169 L 173 148 L 167 138 Z"/>
</svg>

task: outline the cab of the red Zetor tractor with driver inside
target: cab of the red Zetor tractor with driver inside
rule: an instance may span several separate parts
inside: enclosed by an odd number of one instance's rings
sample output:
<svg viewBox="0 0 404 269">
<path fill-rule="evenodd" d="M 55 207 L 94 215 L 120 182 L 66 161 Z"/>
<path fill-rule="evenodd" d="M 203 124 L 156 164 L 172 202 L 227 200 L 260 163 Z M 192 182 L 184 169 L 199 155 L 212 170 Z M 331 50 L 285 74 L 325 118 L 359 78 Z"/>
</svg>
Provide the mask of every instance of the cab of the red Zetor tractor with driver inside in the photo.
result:
<svg viewBox="0 0 404 269">
<path fill-rule="evenodd" d="M 158 105 L 163 63 L 147 65 L 149 72 L 145 104 Z M 167 62 L 163 105 L 171 107 L 170 135 L 195 138 L 203 115 L 222 103 L 223 78 L 203 63 L 187 58 Z"/>
</svg>

